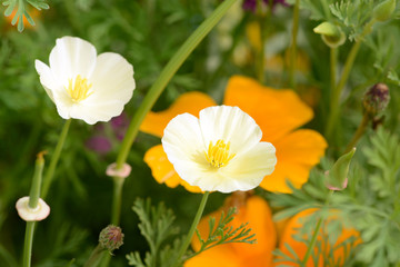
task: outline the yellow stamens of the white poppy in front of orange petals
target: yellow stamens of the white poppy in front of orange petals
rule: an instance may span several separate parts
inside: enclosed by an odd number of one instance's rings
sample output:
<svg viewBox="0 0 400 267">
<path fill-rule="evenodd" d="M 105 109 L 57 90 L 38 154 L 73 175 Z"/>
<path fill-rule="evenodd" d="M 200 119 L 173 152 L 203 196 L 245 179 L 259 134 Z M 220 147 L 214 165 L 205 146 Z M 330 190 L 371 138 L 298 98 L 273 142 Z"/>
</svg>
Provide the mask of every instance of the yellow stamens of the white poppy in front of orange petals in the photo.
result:
<svg viewBox="0 0 400 267">
<path fill-rule="evenodd" d="M 218 140 L 216 145 L 210 141 L 208 152 L 204 152 L 207 161 L 213 167 L 220 168 L 234 157 L 234 154 L 229 155 L 230 142 L 226 144 L 223 140 Z"/>
</svg>

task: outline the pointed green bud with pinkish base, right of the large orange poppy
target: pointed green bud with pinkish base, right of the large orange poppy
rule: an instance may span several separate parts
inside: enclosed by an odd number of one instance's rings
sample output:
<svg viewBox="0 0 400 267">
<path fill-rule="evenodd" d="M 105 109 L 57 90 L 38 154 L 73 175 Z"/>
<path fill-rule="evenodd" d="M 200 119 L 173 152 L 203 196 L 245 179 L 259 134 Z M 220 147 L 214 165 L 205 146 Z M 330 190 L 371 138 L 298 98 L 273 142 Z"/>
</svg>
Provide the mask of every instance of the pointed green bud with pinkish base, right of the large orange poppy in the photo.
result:
<svg viewBox="0 0 400 267">
<path fill-rule="evenodd" d="M 330 190 L 343 190 L 348 185 L 348 174 L 356 148 L 341 156 L 333 167 L 326 172 L 326 185 Z"/>
</svg>

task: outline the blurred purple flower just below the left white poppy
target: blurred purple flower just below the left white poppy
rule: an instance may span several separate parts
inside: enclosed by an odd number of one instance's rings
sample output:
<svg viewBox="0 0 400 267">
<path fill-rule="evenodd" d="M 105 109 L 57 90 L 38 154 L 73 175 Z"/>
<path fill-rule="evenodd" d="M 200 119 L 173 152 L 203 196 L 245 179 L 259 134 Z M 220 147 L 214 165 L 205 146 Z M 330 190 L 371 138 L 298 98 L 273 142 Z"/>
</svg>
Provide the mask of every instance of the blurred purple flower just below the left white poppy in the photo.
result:
<svg viewBox="0 0 400 267">
<path fill-rule="evenodd" d="M 104 156 L 112 150 L 116 141 L 123 139 L 128 126 L 129 119 L 124 112 L 107 123 L 97 123 L 94 135 L 86 141 L 86 147 L 100 156 Z"/>
</svg>

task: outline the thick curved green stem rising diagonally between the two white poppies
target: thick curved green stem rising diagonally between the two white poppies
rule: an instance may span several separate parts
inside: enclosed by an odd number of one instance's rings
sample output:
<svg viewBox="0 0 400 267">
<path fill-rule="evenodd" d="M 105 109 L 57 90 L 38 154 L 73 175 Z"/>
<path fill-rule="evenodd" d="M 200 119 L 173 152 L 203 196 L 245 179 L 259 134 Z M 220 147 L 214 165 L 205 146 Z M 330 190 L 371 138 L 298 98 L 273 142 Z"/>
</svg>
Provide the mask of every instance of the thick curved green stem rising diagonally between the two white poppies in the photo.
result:
<svg viewBox="0 0 400 267">
<path fill-rule="evenodd" d="M 159 78 L 150 88 L 149 92 L 143 99 L 142 105 L 134 113 L 134 117 L 131 120 L 131 123 L 128 128 L 127 135 L 122 141 L 121 150 L 117 157 L 117 168 L 122 168 L 123 164 L 127 161 L 128 154 L 132 147 L 133 140 L 138 135 L 139 127 L 144 119 L 144 116 L 150 111 L 163 89 L 167 87 L 168 82 L 171 80 L 172 76 L 178 71 L 184 60 L 194 50 L 194 48 L 200 43 L 200 41 L 212 30 L 212 28 L 218 23 L 218 21 L 223 17 L 228 9 L 237 0 L 226 0 L 223 1 L 212 13 L 204 20 L 199 28 L 188 38 L 188 40 L 180 47 L 176 55 L 171 58 L 164 69 L 161 71 Z"/>
</svg>

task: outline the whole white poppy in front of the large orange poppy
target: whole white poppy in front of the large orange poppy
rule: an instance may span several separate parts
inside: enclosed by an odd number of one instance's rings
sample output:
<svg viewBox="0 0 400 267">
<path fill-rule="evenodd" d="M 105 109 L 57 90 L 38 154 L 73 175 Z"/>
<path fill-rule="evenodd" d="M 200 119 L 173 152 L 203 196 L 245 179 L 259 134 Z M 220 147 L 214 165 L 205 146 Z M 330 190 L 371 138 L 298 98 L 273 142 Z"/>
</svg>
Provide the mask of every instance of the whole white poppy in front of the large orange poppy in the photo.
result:
<svg viewBox="0 0 400 267">
<path fill-rule="evenodd" d="M 277 164 L 276 149 L 260 142 L 256 121 L 238 107 L 183 113 L 164 129 L 162 147 L 178 175 L 203 191 L 231 192 L 257 187 Z"/>
</svg>

